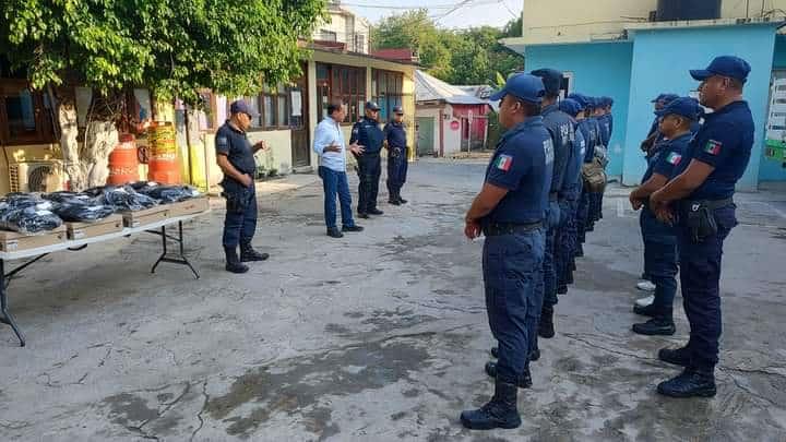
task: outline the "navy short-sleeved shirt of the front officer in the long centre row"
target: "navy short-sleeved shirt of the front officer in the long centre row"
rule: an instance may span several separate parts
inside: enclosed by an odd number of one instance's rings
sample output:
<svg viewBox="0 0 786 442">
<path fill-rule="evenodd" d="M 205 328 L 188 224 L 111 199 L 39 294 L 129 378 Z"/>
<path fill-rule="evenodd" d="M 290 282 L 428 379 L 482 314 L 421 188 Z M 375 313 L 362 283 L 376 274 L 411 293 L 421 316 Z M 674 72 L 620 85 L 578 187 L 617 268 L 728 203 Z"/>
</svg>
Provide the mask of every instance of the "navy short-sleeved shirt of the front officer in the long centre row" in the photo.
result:
<svg viewBox="0 0 786 442">
<path fill-rule="evenodd" d="M 544 219 L 553 168 L 553 143 L 543 117 L 531 117 L 502 135 L 486 169 L 486 182 L 508 189 L 484 219 L 531 224 Z"/>
</svg>

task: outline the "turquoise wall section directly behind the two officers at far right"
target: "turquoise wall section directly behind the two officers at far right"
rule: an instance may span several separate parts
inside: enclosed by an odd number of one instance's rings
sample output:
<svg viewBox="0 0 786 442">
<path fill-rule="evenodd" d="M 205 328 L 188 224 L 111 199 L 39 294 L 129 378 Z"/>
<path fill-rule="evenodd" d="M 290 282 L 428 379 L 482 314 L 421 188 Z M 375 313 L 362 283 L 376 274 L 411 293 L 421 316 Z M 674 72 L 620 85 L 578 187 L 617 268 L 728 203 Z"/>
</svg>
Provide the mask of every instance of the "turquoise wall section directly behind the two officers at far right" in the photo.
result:
<svg viewBox="0 0 786 442">
<path fill-rule="evenodd" d="M 770 98 L 770 77 L 775 50 L 775 25 L 714 28 L 640 31 L 634 40 L 622 180 L 635 184 L 645 170 L 639 142 L 653 120 L 650 100 L 660 92 L 688 95 L 699 83 L 689 69 L 703 69 L 719 55 L 736 55 L 751 64 L 745 89 L 757 122 L 751 162 L 738 183 L 755 190 L 763 155 L 764 122 Z M 769 170 L 769 169 L 767 169 Z"/>
</svg>

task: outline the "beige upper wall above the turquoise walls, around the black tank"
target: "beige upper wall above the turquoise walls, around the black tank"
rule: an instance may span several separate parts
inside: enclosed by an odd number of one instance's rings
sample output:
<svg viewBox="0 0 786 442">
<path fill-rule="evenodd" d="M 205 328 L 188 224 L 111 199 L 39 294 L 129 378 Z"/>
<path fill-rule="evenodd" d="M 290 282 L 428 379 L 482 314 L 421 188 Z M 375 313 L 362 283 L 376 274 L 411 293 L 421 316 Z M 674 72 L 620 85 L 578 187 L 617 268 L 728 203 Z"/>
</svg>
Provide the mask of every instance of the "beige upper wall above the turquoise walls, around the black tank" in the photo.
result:
<svg viewBox="0 0 786 442">
<path fill-rule="evenodd" d="M 750 2 L 749 14 L 746 1 L 724 0 L 722 4 L 722 19 L 761 16 L 761 1 Z M 646 22 L 650 12 L 657 10 L 657 0 L 564 0 L 558 10 L 552 0 L 524 0 L 523 5 L 522 43 L 533 45 L 614 38 L 627 24 Z M 765 2 L 765 11 L 777 9 L 786 10 L 786 0 Z"/>
</svg>

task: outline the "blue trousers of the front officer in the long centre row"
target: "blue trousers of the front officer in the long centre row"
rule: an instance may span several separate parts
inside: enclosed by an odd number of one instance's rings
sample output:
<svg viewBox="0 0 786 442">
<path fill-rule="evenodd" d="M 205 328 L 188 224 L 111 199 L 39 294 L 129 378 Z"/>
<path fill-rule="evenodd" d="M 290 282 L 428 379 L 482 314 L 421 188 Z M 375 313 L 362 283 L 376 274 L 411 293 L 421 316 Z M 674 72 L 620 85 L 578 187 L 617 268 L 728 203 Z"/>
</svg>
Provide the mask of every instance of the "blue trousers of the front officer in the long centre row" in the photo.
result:
<svg viewBox="0 0 786 442">
<path fill-rule="evenodd" d="M 507 383 L 516 384 L 528 361 L 533 331 L 527 325 L 537 327 L 543 302 L 535 282 L 543 268 L 544 242 L 543 229 L 535 229 L 486 237 L 484 243 L 486 309 L 499 343 L 497 379 Z"/>
</svg>

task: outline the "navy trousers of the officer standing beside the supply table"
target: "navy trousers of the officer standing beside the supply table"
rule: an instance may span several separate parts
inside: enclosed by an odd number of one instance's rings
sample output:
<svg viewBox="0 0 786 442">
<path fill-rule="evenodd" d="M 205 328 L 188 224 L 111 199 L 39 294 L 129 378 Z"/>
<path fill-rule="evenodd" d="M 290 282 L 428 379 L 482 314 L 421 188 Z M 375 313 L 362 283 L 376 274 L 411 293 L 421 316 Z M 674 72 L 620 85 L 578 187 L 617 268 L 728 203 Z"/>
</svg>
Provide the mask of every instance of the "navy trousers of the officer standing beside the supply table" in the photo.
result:
<svg viewBox="0 0 786 442">
<path fill-rule="evenodd" d="M 235 181 L 224 180 L 227 213 L 224 218 L 222 242 L 225 248 L 250 243 L 257 231 L 257 192 L 254 186 L 243 188 Z"/>
</svg>

